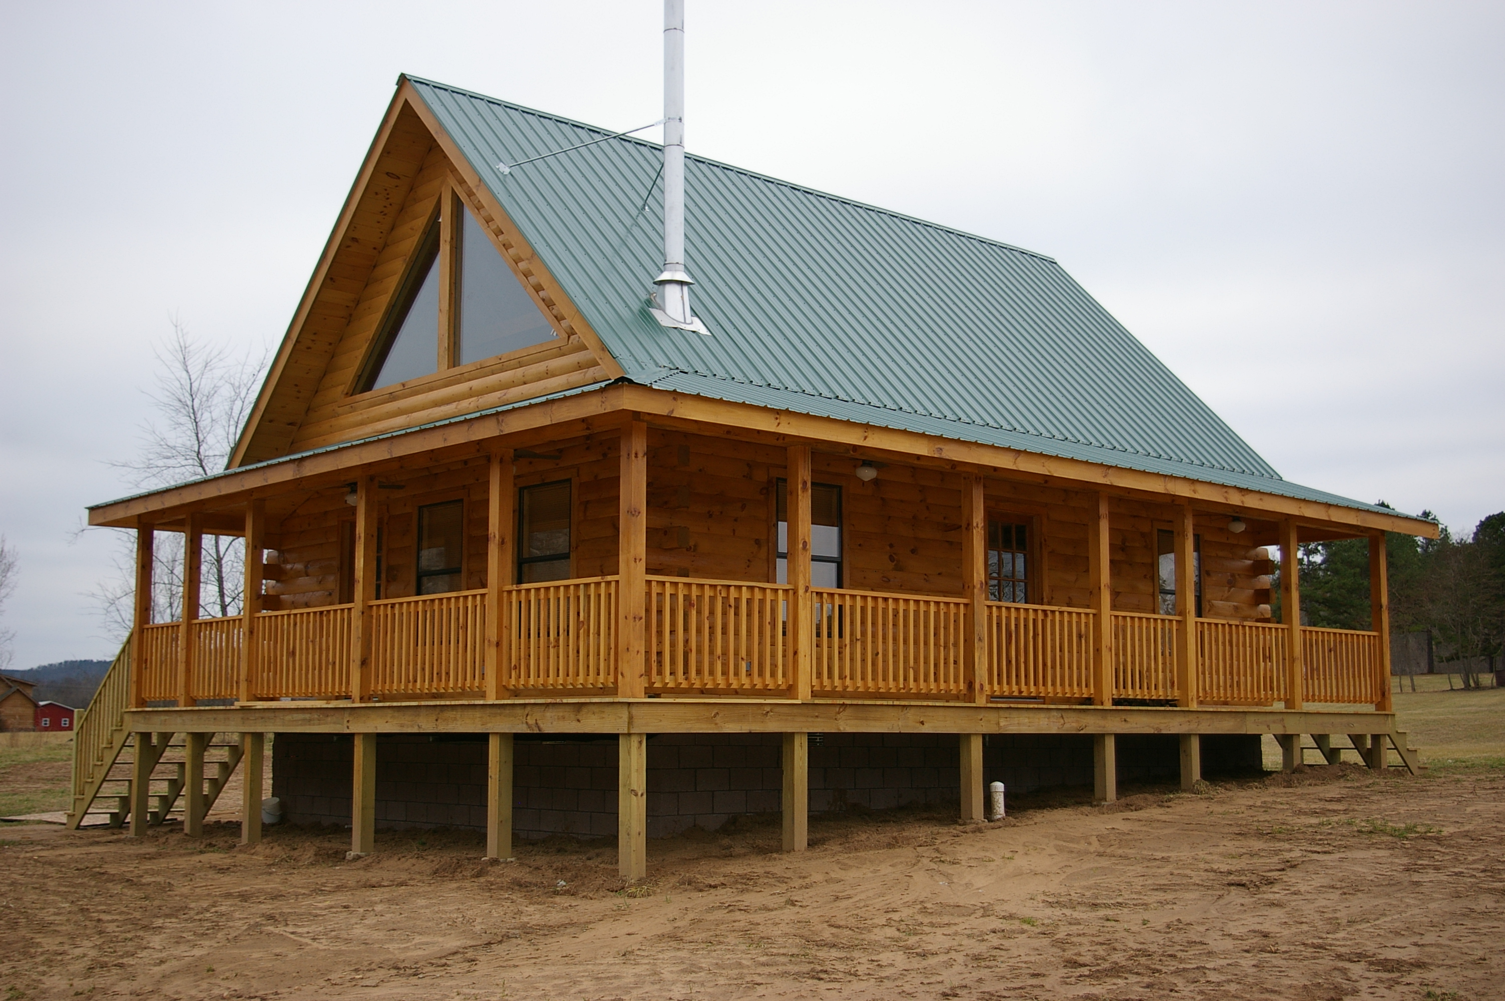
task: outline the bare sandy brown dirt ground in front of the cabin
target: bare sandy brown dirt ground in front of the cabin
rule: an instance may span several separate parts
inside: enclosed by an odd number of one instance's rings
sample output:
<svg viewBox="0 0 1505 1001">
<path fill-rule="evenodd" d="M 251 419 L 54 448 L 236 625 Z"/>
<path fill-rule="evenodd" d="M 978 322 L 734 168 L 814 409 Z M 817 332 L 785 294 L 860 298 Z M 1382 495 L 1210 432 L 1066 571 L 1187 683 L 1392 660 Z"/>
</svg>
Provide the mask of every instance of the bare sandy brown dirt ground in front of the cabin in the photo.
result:
<svg viewBox="0 0 1505 1001">
<path fill-rule="evenodd" d="M 0 829 L 20 998 L 1505 998 L 1505 771 L 1309 768 L 1008 820 L 611 846 Z"/>
</svg>

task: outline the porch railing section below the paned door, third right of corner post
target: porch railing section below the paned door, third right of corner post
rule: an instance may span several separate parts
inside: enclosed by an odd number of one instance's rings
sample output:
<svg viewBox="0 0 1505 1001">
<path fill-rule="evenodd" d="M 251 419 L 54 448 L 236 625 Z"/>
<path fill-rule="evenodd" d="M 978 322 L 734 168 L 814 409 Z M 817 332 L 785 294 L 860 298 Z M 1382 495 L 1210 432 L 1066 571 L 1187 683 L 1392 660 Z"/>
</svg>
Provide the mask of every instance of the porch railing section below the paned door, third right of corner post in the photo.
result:
<svg viewBox="0 0 1505 1001">
<path fill-rule="evenodd" d="M 987 694 L 1093 695 L 1093 611 L 987 604 Z"/>
</svg>

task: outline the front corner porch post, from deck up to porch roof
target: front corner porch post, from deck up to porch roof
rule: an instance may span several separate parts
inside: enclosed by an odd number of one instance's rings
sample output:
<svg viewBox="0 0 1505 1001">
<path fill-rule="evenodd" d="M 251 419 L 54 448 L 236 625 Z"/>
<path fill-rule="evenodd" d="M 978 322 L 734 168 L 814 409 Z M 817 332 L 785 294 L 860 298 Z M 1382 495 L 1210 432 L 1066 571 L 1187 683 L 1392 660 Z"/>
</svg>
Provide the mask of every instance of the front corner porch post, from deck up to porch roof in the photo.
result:
<svg viewBox="0 0 1505 1001">
<path fill-rule="evenodd" d="M 622 427 L 617 506 L 617 695 L 643 698 L 647 688 L 649 426 L 641 420 L 629 420 Z"/>
</svg>

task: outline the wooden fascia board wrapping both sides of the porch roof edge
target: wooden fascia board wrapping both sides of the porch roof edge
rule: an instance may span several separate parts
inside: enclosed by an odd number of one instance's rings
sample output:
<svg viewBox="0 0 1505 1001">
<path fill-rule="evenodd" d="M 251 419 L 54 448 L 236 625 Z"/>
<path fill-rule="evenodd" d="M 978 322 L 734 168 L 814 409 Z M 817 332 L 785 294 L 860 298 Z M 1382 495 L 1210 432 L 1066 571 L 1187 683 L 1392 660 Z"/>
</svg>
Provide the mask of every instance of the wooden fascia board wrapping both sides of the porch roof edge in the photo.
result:
<svg viewBox="0 0 1505 1001">
<path fill-rule="evenodd" d="M 981 473 L 999 479 L 1028 480 L 1076 491 L 1108 491 L 1117 497 L 1159 504 L 1190 503 L 1198 510 L 1228 515 L 1273 515 L 1293 518 L 1320 530 L 1398 531 L 1434 539 L 1437 525 L 1403 515 L 1305 501 L 1279 494 L 1245 491 L 1186 477 L 1124 470 L 1081 459 L 1061 459 L 999 446 L 956 441 L 891 427 L 874 427 L 832 417 L 811 417 L 769 409 L 751 403 L 728 403 L 703 396 L 616 384 L 557 400 L 519 406 L 501 414 L 486 414 L 438 427 L 423 427 L 378 441 L 354 443 L 289 462 L 271 464 L 245 473 L 230 473 L 212 480 L 187 483 L 155 494 L 135 497 L 89 510 L 90 525 L 137 527 L 150 518 L 176 519 L 182 510 L 241 504 L 253 495 L 271 495 L 292 485 L 299 488 L 333 486 L 349 470 L 400 464 L 415 456 L 453 461 L 482 455 L 486 443 L 501 435 L 524 432 L 551 434 L 557 424 L 596 420 L 610 426 L 620 411 L 640 412 L 655 426 L 677 426 L 701 434 L 734 438 L 752 432 L 783 444 L 816 447 L 846 446 L 855 455 L 871 453 L 894 462 L 920 462 L 959 473 Z M 656 418 L 656 420 L 655 420 Z M 578 434 L 581 427 L 572 427 Z M 327 482 L 325 482 L 327 480 Z"/>
</svg>

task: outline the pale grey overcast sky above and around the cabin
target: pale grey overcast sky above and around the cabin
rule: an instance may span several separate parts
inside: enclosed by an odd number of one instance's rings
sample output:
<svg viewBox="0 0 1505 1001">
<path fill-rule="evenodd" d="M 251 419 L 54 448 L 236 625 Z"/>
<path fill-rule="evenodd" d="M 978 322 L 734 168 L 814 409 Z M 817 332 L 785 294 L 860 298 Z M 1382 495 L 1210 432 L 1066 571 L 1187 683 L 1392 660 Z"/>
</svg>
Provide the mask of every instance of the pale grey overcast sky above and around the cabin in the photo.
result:
<svg viewBox="0 0 1505 1001">
<path fill-rule="evenodd" d="M 688 8 L 691 152 L 1057 257 L 1290 480 L 1505 509 L 1505 5 Z M 113 655 L 110 533 L 71 536 L 128 492 L 152 346 L 172 315 L 281 339 L 399 72 L 631 128 L 661 29 L 656 0 L 5 5 L 14 665 Z"/>
</svg>

